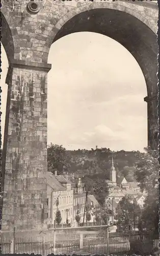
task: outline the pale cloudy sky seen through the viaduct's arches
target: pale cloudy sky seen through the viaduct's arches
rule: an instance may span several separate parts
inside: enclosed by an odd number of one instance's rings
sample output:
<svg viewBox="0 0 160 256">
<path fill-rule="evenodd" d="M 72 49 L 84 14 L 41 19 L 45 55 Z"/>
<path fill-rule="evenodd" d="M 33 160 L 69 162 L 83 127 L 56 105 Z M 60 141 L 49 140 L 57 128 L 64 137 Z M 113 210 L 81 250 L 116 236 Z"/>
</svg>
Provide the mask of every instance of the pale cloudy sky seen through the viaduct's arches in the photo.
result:
<svg viewBox="0 0 160 256">
<path fill-rule="evenodd" d="M 147 146 L 147 88 L 135 58 L 117 41 L 79 32 L 52 44 L 48 63 L 47 143 L 68 150 Z M 2 137 L 8 60 L 2 47 Z M 134 71 L 134 72 L 133 72 Z"/>
</svg>

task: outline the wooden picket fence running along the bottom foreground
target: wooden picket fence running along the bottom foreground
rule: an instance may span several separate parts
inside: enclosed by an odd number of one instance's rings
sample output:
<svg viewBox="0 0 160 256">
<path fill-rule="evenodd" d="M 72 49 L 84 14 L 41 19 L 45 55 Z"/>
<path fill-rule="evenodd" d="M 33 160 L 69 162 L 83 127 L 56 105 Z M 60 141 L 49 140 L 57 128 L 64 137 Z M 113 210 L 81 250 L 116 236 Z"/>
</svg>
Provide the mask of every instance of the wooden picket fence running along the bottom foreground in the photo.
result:
<svg viewBox="0 0 160 256">
<path fill-rule="evenodd" d="M 72 251 L 84 250 L 91 254 L 129 254 L 131 241 L 151 241 L 153 251 L 158 251 L 158 234 L 154 230 L 130 232 L 111 232 L 106 229 L 91 233 L 88 231 L 57 233 L 54 231 L 50 239 L 44 237 L 26 237 L 2 239 L 1 251 L 8 253 L 35 253 L 47 255 L 50 253 L 66 254 Z M 132 254 L 132 253 L 131 253 Z M 142 253 L 143 254 L 143 253 Z"/>
</svg>

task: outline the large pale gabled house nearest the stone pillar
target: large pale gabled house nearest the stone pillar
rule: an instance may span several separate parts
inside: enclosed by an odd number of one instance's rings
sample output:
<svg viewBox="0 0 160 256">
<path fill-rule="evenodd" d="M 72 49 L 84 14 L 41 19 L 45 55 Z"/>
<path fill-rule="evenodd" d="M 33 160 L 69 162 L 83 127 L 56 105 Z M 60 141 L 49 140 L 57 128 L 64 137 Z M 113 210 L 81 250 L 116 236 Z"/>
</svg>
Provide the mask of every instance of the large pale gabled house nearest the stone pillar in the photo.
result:
<svg viewBox="0 0 160 256">
<path fill-rule="evenodd" d="M 61 223 L 72 223 L 73 220 L 73 189 L 71 182 L 58 176 L 47 172 L 47 223 L 53 225 L 56 219 L 57 208 L 61 212 Z M 57 207 L 56 202 L 59 201 Z"/>
</svg>

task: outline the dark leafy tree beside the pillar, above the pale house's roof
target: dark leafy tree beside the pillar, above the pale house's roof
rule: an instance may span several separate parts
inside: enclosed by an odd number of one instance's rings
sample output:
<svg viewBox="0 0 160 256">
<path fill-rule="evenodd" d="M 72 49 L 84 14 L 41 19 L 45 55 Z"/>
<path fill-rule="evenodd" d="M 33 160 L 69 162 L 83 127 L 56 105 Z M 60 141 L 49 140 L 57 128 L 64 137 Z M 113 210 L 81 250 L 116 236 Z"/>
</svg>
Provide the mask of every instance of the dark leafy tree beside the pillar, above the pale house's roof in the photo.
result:
<svg viewBox="0 0 160 256">
<path fill-rule="evenodd" d="M 50 144 L 47 148 L 47 162 L 48 170 L 54 172 L 57 169 L 59 173 L 63 170 L 68 170 L 69 164 L 69 153 L 62 145 Z"/>
</svg>

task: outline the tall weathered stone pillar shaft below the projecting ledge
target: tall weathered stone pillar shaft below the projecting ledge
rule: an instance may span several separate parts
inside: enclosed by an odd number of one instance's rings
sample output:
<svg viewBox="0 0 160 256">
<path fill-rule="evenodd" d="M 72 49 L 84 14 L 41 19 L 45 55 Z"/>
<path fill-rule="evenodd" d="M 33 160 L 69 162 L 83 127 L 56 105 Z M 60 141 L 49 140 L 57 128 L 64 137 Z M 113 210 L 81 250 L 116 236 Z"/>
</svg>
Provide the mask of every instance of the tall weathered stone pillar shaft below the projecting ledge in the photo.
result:
<svg viewBox="0 0 160 256">
<path fill-rule="evenodd" d="M 13 68 L 2 230 L 41 229 L 46 219 L 47 73 Z"/>
</svg>

